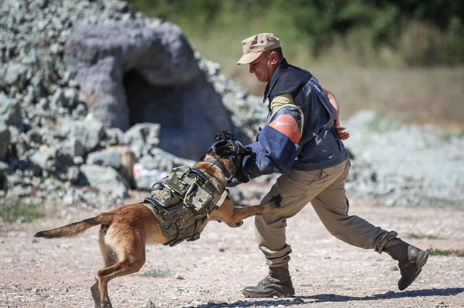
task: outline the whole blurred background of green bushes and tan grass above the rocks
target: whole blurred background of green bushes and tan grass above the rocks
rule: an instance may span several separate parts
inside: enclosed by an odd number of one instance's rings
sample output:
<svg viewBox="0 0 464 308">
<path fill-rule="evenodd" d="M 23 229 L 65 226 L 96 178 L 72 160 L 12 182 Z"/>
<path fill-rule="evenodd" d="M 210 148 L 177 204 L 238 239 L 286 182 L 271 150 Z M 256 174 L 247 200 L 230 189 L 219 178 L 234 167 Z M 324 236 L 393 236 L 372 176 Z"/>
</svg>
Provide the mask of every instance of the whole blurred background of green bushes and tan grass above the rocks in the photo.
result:
<svg viewBox="0 0 464 308">
<path fill-rule="evenodd" d="M 438 124 L 458 134 L 464 129 L 463 1 L 128 2 L 179 25 L 203 57 L 253 95 L 262 96 L 265 84 L 236 65 L 240 42 L 273 32 L 285 58 L 335 94 L 341 120 L 375 109 L 402 124 Z"/>
</svg>

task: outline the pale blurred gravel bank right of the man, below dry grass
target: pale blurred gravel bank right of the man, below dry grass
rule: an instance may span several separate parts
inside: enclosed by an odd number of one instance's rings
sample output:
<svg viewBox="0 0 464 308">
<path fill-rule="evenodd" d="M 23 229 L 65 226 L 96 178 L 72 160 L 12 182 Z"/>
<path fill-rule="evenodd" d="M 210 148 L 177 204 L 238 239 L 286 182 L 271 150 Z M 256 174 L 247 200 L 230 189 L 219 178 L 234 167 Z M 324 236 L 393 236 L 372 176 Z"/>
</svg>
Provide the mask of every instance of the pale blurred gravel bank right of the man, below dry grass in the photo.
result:
<svg viewBox="0 0 464 308">
<path fill-rule="evenodd" d="M 342 122 L 354 159 L 347 191 L 387 206 L 464 205 L 464 138 L 363 110 Z M 351 181 L 350 181 L 351 180 Z"/>
</svg>

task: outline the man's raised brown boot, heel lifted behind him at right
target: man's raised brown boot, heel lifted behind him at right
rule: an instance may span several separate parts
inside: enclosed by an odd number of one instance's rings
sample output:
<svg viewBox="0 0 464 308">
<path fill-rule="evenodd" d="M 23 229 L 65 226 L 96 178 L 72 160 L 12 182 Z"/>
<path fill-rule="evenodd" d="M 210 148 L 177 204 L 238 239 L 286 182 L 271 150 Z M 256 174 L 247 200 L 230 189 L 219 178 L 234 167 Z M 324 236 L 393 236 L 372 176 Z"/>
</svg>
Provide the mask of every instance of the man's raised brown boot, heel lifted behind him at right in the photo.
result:
<svg viewBox="0 0 464 308">
<path fill-rule="evenodd" d="M 416 280 L 429 257 L 426 251 L 407 244 L 399 238 L 387 241 L 382 251 L 387 252 L 394 260 L 399 261 L 401 278 L 398 281 L 398 289 L 400 291 L 406 289 Z"/>
</svg>

